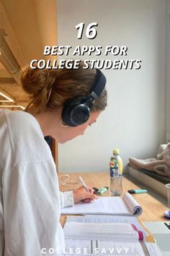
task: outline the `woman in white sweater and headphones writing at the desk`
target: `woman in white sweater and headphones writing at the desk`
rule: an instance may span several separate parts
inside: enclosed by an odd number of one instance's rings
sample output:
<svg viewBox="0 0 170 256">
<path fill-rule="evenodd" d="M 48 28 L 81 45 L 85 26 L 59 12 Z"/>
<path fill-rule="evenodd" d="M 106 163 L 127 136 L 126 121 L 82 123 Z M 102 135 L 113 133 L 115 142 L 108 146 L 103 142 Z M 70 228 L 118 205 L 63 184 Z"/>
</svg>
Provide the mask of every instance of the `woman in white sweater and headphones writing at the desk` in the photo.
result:
<svg viewBox="0 0 170 256">
<path fill-rule="evenodd" d="M 62 252 L 61 207 L 97 198 L 91 188 L 90 193 L 83 187 L 59 192 L 44 140 L 50 135 L 64 143 L 83 135 L 107 106 L 104 75 L 83 65 L 26 69 L 22 86 L 31 98 L 27 113 L 0 111 L 0 255 L 39 256 L 42 248 Z"/>
</svg>

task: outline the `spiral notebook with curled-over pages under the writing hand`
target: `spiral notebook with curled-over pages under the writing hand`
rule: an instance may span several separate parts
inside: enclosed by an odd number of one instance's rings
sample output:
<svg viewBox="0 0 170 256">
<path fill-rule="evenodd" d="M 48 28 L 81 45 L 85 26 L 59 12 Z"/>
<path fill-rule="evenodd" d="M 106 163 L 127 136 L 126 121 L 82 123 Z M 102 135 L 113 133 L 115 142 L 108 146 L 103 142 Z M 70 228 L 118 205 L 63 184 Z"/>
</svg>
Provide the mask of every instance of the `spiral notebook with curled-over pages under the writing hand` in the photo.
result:
<svg viewBox="0 0 170 256">
<path fill-rule="evenodd" d="M 125 215 L 139 216 L 142 208 L 129 193 L 122 197 L 99 197 L 92 203 L 80 202 L 72 207 L 61 209 L 61 214 L 82 214 L 82 215 Z"/>
</svg>

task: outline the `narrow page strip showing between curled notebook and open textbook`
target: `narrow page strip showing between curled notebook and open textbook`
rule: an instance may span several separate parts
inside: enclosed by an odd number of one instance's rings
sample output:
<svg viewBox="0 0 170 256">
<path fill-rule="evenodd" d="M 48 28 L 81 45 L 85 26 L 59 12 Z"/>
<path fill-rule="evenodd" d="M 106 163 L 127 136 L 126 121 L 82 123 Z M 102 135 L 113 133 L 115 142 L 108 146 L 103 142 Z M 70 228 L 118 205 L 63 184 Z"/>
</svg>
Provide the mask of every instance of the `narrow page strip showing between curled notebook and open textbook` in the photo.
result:
<svg viewBox="0 0 170 256">
<path fill-rule="evenodd" d="M 143 229 L 138 218 L 134 216 L 68 216 L 66 221 L 80 223 L 132 223 L 138 230 L 143 232 L 144 236 L 148 236 L 147 231 Z"/>
</svg>

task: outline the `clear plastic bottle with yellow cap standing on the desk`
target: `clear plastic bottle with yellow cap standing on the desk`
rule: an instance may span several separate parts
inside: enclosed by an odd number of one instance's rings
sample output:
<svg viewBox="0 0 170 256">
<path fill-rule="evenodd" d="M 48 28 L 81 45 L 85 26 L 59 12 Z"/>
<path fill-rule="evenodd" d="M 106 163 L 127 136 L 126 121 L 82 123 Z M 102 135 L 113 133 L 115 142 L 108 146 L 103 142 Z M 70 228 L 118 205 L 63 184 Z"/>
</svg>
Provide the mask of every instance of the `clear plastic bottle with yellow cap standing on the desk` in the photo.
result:
<svg viewBox="0 0 170 256">
<path fill-rule="evenodd" d="M 120 150 L 114 149 L 113 155 L 109 161 L 110 187 L 112 196 L 122 195 L 122 158 Z"/>
</svg>

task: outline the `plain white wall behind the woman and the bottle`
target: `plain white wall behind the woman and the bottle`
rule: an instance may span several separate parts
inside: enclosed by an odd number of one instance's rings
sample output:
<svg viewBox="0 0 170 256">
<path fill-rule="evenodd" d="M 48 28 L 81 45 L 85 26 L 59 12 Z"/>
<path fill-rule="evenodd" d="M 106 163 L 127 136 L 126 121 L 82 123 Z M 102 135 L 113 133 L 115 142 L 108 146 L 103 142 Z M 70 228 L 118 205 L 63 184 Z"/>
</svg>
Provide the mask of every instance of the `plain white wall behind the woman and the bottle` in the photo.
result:
<svg viewBox="0 0 170 256">
<path fill-rule="evenodd" d="M 59 145 L 59 172 L 108 171 L 112 148 L 120 148 L 125 164 L 130 156 L 154 157 L 166 137 L 166 0 L 57 4 L 58 46 L 128 46 L 128 59 L 142 60 L 138 70 L 103 70 L 108 107 L 83 137 Z M 76 39 L 80 22 L 98 22 L 97 38 Z"/>
</svg>

